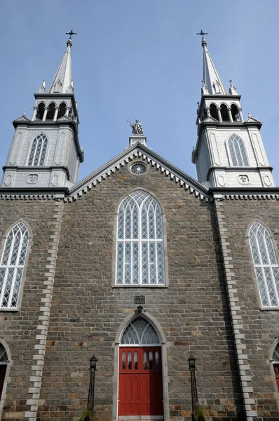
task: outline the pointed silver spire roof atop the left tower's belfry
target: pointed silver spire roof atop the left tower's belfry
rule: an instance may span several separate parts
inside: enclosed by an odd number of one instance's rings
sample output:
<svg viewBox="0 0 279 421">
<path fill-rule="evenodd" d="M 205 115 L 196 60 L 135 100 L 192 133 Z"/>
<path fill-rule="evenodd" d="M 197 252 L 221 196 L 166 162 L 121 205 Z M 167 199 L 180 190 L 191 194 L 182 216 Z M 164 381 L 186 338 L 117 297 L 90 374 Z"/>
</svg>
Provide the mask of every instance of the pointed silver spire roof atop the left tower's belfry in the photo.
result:
<svg viewBox="0 0 279 421">
<path fill-rule="evenodd" d="M 67 41 L 67 50 L 50 85 L 48 93 L 72 93 L 72 62 L 71 62 L 71 37 Z"/>
</svg>

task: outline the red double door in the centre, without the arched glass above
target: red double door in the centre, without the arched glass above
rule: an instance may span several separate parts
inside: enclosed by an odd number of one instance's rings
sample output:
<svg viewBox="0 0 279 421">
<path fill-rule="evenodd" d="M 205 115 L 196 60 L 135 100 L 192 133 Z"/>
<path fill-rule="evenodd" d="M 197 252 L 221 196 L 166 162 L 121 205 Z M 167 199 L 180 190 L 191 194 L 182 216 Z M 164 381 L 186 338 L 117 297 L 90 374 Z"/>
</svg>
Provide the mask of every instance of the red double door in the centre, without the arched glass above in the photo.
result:
<svg viewBox="0 0 279 421">
<path fill-rule="evenodd" d="M 118 416 L 163 418 L 162 378 L 161 347 L 121 347 Z"/>
</svg>

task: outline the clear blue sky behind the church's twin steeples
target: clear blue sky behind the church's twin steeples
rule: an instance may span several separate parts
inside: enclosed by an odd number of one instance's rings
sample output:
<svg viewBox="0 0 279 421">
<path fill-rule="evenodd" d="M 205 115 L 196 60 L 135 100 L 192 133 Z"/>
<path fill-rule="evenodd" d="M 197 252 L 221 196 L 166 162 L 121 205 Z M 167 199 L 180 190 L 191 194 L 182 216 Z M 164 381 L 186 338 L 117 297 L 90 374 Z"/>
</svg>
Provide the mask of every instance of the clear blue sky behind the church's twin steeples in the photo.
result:
<svg viewBox="0 0 279 421">
<path fill-rule="evenodd" d="M 278 0 L 1 0 L 1 165 L 11 122 L 53 79 L 73 29 L 72 74 L 85 151 L 79 179 L 128 146 L 127 119 L 140 119 L 147 145 L 196 178 L 196 102 L 207 47 L 226 88 L 243 95 L 261 135 L 276 185 L 278 161 Z"/>
</svg>

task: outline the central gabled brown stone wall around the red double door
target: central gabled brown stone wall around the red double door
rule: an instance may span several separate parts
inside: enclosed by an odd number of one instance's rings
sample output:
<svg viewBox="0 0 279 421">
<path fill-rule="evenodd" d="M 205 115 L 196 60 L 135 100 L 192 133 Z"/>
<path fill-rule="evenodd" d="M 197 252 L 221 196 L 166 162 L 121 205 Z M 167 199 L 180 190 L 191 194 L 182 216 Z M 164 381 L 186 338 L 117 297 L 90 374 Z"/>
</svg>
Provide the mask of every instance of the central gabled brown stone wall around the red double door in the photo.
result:
<svg viewBox="0 0 279 421">
<path fill-rule="evenodd" d="M 134 189 L 161 203 L 167 238 L 168 287 L 114 287 L 114 230 L 121 199 Z M 197 358 L 198 397 L 213 420 L 240 419 L 241 399 L 219 234 L 213 203 L 149 166 L 128 166 L 73 203 L 66 203 L 41 388 L 41 421 L 72 420 L 86 408 L 89 359 L 98 359 L 95 420 L 111 420 L 117 387 L 116 333 L 145 295 L 144 310 L 166 337 L 170 419 L 191 418 L 190 354 Z M 165 414 L 168 420 L 168 411 Z"/>
</svg>

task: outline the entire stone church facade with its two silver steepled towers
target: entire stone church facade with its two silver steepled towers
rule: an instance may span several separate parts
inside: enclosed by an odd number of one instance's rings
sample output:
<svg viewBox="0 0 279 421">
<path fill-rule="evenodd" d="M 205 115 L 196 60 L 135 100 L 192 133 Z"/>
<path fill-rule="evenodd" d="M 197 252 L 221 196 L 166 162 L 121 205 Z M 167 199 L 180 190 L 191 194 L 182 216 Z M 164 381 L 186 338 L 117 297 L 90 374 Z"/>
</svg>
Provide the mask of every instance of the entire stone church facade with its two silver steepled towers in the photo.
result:
<svg viewBox="0 0 279 421">
<path fill-rule="evenodd" d="M 147 146 L 81 181 L 72 39 L 35 94 L 0 187 L 1 420 L 279 419 L 279 189 L 203 46 L 198 181 Z"/>
</svg>

